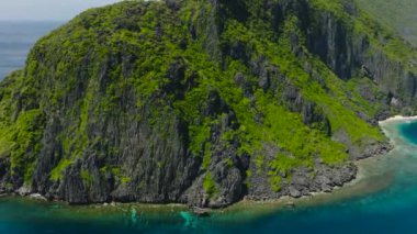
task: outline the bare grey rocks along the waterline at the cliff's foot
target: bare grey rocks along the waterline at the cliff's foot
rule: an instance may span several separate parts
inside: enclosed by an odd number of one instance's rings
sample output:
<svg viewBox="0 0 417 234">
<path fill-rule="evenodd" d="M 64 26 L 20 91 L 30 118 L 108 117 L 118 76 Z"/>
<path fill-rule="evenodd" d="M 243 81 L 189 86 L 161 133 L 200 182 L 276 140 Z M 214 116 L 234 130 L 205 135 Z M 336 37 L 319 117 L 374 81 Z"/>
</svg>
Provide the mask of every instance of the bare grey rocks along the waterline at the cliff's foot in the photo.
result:
<svg viewBox="0 0 417 234">
<path fill-rule="evenodd" d="M 393 145 L 390 143 L 380 143 L 371 145 L 367 151 L 367 156 L 358 158 L 356 161 L 362 160 L 364 158 L 381 156 L 393 149 Z M 248 194 L 243 198 L 243 200 L 237 201 L 237 203 L 249 200 L 249 201 L 277 201 L 285 198 L 300 199 L 305 197 L 312 197 L 318 193 L 331 193 L 335 189 L 341 188 L 345 185 L 357 179 L 358 166 L 356 161 L 350 161 L 341 166 L 327 166 L 320 163 L 316 163 L 314 169 L 311 168 L 297 168 L 292 171 L 291 181 L 283 182 L 280 192 L 272 192 L 268 187 L 269 181 L 264 178 L 252 178 L 251 182 L 257 182 L 256 186 L 251 187 Z M 314 177 L 312 177 L 314 175 Z M 0 198 L 8 196 L 20 196 L 26 197 L 29 199 L 40 200 L 40 201 L 61 201 L 55 199 L 48 199 L 41 193 L 33 192 L 27 187 L 21 187 L 18 190 L 8 191 L 5 189 L 0 190 Z M 65 202 L 65 201 L 61 201 Z M 142 203 L 142 202 L 139 202 Z M 97 202 L 87 203 L 89 204 L 101 204 Z M 104 202 L 103 204 L 106 204 Z M 161 203 L 162 204 L 162 203 Z M 226 205 L 228 207 L 228 205 Z M 225 207 L 222 207 L 225 208 Z M 190 204 L 190 211 L 193 211 L 195 207 Z"/>
</svg>

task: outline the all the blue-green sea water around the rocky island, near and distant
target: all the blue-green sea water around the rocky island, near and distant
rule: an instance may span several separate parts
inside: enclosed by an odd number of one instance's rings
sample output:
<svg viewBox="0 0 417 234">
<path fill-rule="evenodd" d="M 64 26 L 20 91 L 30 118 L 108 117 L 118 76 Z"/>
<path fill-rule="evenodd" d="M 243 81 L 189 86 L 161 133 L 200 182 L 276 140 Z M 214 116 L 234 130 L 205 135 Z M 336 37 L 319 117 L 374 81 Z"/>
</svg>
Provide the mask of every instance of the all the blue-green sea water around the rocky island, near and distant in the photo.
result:
<svg viewBox="0 0 417 234">
<path fill-rule="evenodd" d="M 0 23 L 0 74 L 24 64 L 33 42 L 55 24 Z M 0 199 L 0 234 L 37 233 L 417 233 L 417 122 L 383 124 L 396 148 L 361 163 L 359 180 L 295 207 L 239 204 L 210 218 L 182 207 L 69 207 Z"/>
</svg>

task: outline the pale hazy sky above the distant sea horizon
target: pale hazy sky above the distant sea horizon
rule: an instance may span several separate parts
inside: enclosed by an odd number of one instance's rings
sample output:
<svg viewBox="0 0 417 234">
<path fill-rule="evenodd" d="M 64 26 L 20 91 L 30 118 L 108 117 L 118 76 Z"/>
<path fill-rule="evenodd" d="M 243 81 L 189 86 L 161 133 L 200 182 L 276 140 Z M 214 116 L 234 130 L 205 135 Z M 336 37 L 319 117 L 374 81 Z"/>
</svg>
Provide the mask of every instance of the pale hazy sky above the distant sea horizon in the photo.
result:
<svg viewBox="0 0 417 234">
<path fill-rule="evenodd" d="M 0 0 L 0 21 L 67 21 L 120 0 Z"/>
</svg>

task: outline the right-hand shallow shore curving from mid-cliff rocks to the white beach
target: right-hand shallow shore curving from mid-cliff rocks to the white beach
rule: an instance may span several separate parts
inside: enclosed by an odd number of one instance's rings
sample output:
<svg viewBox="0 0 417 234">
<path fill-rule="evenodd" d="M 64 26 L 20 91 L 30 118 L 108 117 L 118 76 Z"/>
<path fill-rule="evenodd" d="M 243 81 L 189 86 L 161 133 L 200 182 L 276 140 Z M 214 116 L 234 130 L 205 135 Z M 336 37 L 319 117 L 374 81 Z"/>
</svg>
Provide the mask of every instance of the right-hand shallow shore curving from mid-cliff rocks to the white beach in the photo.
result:
<svg viewBox="0 0 417 234">
<path fill-rule="evenodd" d="M 371 157 L 353 160 L 352 163 L 358 167 L 356 178 L 349 182 L 346 182 L 341 187 L 335 187 L 331 192 L 320 191 L 312 192 L 309 196 L 303 196 L 301 198 L 282 197 L 279 199 L 267 199 L 259 201 L 244 199 L 235 204 L 232 204 L 230 207 L 221 209 L 219 212 L 249 213 L 255 211 L 259 212 L 258 215 L 264 215 L 282 209 L 308 208 L 319 204 L 328 204 L 383 190 L 393 182 L 393 172 L 377 171 L 377 169 L 373 167 L 381 160 L 390 159 L 395 156 L 391 153 L 398 145 L 402 145 L 402 140 L 398 140 L 398 137 L 393 137 L 393 133 L 390 132 L 386 126 L 404 121 L 417 121 L 417 116 L 395 115 L 386 120 L 379 121 L 379 125 L 392 147 L 383 154 L 375 154 Z"/>
</svg>

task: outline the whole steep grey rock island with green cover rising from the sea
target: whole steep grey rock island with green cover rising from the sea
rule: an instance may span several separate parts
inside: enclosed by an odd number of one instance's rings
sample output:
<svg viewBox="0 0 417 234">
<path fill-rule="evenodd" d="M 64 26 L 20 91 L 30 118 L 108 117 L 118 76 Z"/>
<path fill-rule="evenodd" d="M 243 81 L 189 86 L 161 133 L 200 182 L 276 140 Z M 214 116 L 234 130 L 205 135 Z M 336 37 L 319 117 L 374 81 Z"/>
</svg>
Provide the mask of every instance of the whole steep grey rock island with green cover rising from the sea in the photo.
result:
<svg viewBox="0 0 417 234">
<path fill-rule="evenodd" d="M 415 57 L 348 0 L 90 10 L 0 85 L 0 191 L 211 208 L 331 191 L 388 151 L 376 120 L 413 113 Z"/>
</svg>

